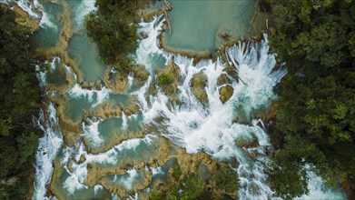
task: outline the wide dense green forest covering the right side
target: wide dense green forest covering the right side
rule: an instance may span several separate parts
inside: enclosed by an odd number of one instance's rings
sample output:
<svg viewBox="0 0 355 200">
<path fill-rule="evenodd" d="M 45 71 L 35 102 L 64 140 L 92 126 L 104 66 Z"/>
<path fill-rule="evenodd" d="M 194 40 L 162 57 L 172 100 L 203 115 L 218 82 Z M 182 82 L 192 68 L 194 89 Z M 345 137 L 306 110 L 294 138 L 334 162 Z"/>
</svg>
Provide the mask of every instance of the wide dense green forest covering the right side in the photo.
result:
<svg viewBox="0 0 355 200">
<path fill-rule="evenodd" d="M 288 75 L 271 127 L 275 195 L 307 193 L 307 164 L 329 185 L 355 187 L 355 3 L 264 0 L 278 35 L 271 38 Z"/>
</svg>

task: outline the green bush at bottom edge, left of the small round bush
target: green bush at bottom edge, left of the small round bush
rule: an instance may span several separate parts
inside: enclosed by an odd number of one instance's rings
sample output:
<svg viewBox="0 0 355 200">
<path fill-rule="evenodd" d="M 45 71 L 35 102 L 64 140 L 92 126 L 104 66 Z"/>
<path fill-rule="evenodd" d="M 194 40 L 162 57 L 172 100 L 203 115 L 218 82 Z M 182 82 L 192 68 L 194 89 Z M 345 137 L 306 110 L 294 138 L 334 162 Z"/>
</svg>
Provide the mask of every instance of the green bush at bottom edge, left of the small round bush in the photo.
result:
<svg viewBox="0 0 355 200">
<path fill-rule="evenodd" d="M 167 194 L 169 200 L 193 200 L 203 193 L 202 181 L 195 175 L 190 175 L 178 185 L 173 185 Z"/>
</svg>

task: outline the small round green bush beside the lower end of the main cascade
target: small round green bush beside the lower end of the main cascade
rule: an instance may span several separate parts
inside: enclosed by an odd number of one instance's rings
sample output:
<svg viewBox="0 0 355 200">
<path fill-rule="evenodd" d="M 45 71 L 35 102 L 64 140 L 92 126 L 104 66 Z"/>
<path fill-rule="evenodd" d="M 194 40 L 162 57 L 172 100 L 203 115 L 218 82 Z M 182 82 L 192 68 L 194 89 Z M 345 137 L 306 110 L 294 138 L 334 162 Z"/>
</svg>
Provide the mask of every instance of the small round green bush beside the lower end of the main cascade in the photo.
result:
<svg viewBox="0 0 355 200">
<path fill-rule="evenodd" d="M 213 178 L 217 187 L 227 193 L 236 191 L 239 186 L 238 175 L 230 167 L 220 168 Z"/>
</svg>

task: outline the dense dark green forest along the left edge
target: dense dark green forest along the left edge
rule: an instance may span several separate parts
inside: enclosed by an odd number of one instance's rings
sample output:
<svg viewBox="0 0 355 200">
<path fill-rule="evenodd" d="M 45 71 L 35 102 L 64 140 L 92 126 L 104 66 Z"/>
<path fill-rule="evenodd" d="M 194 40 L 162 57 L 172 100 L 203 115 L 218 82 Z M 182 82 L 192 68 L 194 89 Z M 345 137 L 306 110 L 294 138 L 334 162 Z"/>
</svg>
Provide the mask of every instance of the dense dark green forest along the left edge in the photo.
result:
<svg viewBox="0 0 355 200">
<path fill-rule="evenodd" d="M 33 122 L 41 95 L 28 33 L 11 16 L 0 9 L 0 199 L 25 199 L 42 134 Z"/>
</svg>

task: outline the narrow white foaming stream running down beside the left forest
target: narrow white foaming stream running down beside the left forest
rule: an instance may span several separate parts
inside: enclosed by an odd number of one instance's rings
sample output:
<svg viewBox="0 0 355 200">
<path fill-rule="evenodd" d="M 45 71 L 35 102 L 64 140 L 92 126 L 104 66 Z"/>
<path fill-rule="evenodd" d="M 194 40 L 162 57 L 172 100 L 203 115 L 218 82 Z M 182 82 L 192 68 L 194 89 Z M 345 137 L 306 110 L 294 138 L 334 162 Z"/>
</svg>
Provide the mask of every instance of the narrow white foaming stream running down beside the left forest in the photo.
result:
<svg viewBox="0 0 355 200">
<path fill-rule="evenodd" d="M 47 117 L 41 111 L 40 117 L 35 119 L 36 124 L 44 131 L 39 139 L 38 150 L 35 155 L 35 186 L 33 199 L 44 199 L 46 186 L 51 182 L 53 162 L 59 149 L 63 145 L 63 136 L 58 124 L 54 105 L 48 105 Z"/>
</svg>

